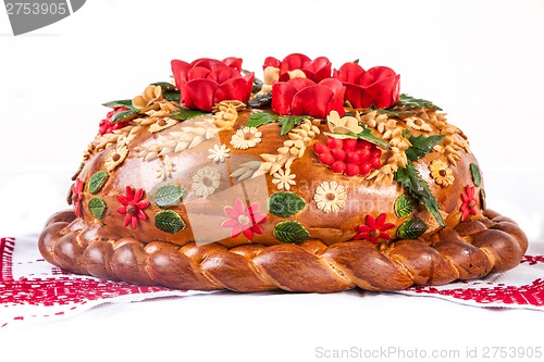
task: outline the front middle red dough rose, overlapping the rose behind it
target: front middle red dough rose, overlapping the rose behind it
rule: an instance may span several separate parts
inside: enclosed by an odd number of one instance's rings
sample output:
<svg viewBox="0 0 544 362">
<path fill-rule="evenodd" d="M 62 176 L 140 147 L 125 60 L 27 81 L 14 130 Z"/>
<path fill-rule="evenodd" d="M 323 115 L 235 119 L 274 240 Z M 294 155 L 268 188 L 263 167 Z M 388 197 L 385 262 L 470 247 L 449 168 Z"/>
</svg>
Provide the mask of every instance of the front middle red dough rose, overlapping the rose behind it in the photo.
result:
<svg viewBox="0 0 544 362">
<path fill-rule="evenodd" d="M 331 111 L 344 115 L 342 82 L 333 78 L 314 83 L 308 78 L 294 78 L 272 85 L 272 111 L 282 115 L 311 115 L 324 118 Z"/>
</svg>

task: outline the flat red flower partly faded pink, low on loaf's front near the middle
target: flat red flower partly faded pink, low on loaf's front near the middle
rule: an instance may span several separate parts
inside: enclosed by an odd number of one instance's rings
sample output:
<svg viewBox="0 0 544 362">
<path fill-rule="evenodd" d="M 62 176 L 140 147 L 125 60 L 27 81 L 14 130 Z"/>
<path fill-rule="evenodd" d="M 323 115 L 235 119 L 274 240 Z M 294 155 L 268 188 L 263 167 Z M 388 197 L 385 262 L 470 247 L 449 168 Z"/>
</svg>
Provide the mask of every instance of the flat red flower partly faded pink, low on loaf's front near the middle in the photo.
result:
<svg viewBox="0 0 544 362">
<path fill-rule="evenodd" d="M 223 210 L 230 219 L 225 220 L 221 226 L 231 228 L 231 238 L 234 239 L 244 234 L 248 240 L 252 240 L 254 233 L 262 234 L 262 227 L 259 224 L 267 221 L 267 215 L 258 213 L 257 202 L 246 208 L 240 199 L 236 199 L 234 208 L 225 207 Z"/>
</svg>

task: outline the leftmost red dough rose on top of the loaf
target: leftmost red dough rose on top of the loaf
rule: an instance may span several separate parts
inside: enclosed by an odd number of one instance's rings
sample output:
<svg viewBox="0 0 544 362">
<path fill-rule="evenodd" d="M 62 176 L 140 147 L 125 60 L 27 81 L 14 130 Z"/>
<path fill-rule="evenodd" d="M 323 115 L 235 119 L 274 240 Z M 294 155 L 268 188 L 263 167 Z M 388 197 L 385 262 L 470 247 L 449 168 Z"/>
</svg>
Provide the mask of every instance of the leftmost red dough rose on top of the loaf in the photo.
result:
<svg viewBox="0 0 544 362">
<path fill-rule="evenodd" d="M 193 63 L 172 61 L 175 85 L 181 102 L 189 109 L 211 111 L 215 103 L 238 100 L 247 103 L 254 86 L 254 73 L 242 76 L 242 59 L 223 61 L 201 58 Z"/>
</svg>

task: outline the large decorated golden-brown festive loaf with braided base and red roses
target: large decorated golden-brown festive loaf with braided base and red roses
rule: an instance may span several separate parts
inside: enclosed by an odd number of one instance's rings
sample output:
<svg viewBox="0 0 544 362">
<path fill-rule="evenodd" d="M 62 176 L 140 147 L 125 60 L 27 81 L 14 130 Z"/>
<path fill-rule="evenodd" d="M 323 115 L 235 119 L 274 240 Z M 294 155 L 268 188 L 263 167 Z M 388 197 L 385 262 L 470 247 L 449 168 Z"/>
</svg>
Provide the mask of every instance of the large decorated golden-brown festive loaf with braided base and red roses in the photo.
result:
<svg viewBox="0 0 544 362">
<path fill-rule="evenodd" d="M 462 132 L 399 95 L 391 70 L 346 64 L 267 59 L 261 83 L 234 58 L 173 61 L 175 85 L 104 104 L 41 253 L 100 278 L 237 291 L 399 290 L 515 267 L 527 238 L 485 209 Z"/>
</svg>

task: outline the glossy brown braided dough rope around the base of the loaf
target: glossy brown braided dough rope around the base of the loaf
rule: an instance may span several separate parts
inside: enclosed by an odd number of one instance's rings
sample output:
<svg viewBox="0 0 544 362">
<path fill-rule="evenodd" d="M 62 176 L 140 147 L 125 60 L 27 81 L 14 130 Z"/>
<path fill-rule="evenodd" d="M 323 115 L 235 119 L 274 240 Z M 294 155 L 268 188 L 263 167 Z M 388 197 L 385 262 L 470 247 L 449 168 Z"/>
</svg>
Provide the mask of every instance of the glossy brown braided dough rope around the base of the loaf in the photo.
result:
<svg viewBox="0 0 544 362">
<path fill-rule="evenodd" d="M 403 290 L 481 278 L 519 264 L 528 240 L 510 219 L 485 211 L 430 239 L 400 240 L 378 249 L 369 241 L 326 246 L 219 244 L 178 247 L 134 238 L 104 240 L 72 211 L 53 215 L 39 237 L 45 259 L 62 269 L 99 278 L 175 289 L 333 292 L 359 287 Z"/>
</svg>

